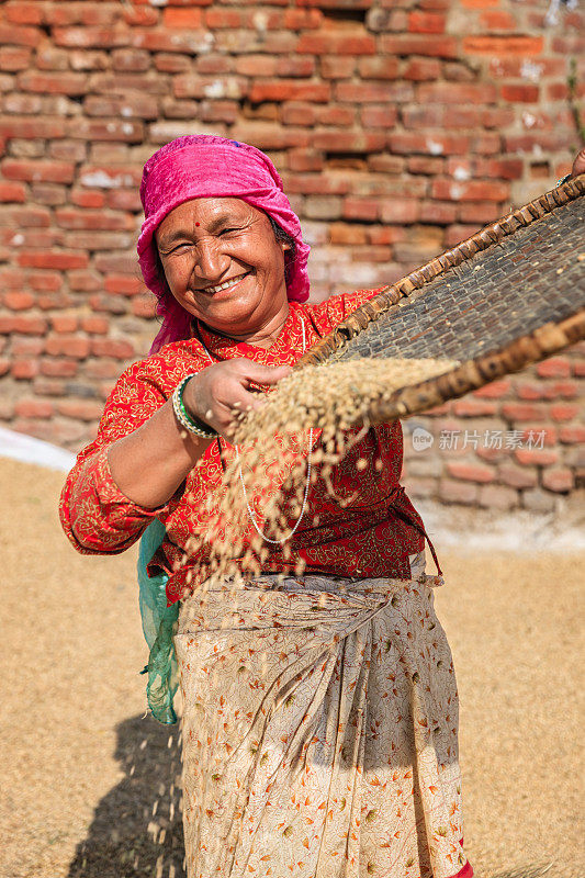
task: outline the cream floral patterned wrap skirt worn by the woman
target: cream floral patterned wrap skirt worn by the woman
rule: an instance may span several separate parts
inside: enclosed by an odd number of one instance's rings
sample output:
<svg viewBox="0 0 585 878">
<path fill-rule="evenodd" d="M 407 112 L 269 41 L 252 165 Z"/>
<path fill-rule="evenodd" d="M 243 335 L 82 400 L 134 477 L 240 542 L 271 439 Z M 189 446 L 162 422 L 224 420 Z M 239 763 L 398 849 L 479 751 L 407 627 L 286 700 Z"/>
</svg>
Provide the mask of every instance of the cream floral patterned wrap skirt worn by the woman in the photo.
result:
<svg viewBox="0 0 585 878">
<path fill-rule="evenodd" d="M 471 878 L 459 701 L 410 579 L 262 576 L 180 610 L 189 878 Z"/>
</svg>

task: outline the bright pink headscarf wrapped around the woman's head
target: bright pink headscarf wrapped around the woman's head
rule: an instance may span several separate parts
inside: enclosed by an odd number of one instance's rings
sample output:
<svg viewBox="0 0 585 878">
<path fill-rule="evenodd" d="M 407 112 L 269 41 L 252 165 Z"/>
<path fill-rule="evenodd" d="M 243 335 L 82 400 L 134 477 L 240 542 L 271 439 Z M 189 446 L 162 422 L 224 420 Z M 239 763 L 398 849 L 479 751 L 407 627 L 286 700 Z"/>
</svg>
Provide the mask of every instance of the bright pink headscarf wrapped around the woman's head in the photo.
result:
<svg viewBox="0 0 585 878">
<path fill-rule="evenodd" d="M 158 299 L 157 314 L 164 318 L 151 353 L 162 345 L 191 335 L 191 314 L 179 305 L 158 277 L 155 229 L 184 201 L 221 196 L 241 199 L 258 207 L 294 238 L 294 261 L 285 263 L 286 294 L 296 302 L 308 297 L 310 247 L 303 241 L 299 217 L 268 156 L 255 146 L 209 134 L 178 137 L 148 159 L 140 183 L 145 221 L 138 238 L 138 261 L 146 285 Z"/>
</svg>

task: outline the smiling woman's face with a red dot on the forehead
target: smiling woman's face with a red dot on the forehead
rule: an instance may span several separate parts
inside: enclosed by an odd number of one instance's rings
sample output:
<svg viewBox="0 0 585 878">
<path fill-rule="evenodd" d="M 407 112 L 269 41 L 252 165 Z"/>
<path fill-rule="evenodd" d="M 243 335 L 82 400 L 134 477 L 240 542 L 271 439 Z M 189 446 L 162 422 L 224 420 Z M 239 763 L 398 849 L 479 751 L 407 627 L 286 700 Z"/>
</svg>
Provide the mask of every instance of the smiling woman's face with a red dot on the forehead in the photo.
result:
<svg viewBox="0 0 585 878">
<path fill-rule="evenodd" d="M 288 245 L 245 201 L 185 201 L 160 223 L 156 243 L 172 295 L 211 329 L 254 340 L 285 319 Z"/>
</svg>

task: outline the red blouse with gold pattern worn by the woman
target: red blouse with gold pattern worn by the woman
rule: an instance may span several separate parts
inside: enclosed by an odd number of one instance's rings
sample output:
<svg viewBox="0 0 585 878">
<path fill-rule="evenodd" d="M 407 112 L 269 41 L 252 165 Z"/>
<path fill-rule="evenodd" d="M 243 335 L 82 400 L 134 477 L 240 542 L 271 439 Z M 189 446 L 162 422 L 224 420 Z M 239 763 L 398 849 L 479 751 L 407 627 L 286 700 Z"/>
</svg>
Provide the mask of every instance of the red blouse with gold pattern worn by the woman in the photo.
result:
<svg viewBox="0 0 585 878">
<path fill-rule="evenodd" d="M 205 347 L 198 338 L 177 341 L 131 365 L 108 399 L 95 440 L 79 453 L 61 493 L 61 525 L 75 548 L 86 554 L 123 552 L 158 518 L 167 536 L 151 569 L 169 574 L 170 604 L 184 597 L 205 578 L 209 558 L 202 548 L 184 564 L 183 548 L 190 534 L 203 533 L 209 526 L 205 500 L 210 488 L 221 482 L 234 448 L 223 439 L 212 442 L 171 499 L 148 509 L 132 503 L 114 483 L 108 463 L 110 444 L 147 420 L 187 374 L 209 367 L 210 357 L 292 365 L 302 356 L 303 340 L 307 348 L 313 346 L 376 292 L 333 296 L 318 305 L 291 303 L 283 330 L 269 349 L 236 344 L 200 328 Z M 360 458 L 369 465 L 359 472 Z M 408 578 L 409 555 L 423 550 L 426 533 L 400 485 L 402 459 L 401 423 L 371 428 L 334 469 L 335 497 L 322 479 L 311 485 L 308 514 L 288 543 L 294 561 L 286 562 L 283 547 L 271 545 L 263 569 L 286 571 L 302 558 L 306 573 Z M 251 539 L 251 528 L 250 522 L 247 539 Z M 430 541 L 429 545 L 435 558 Z"/>
</svg>

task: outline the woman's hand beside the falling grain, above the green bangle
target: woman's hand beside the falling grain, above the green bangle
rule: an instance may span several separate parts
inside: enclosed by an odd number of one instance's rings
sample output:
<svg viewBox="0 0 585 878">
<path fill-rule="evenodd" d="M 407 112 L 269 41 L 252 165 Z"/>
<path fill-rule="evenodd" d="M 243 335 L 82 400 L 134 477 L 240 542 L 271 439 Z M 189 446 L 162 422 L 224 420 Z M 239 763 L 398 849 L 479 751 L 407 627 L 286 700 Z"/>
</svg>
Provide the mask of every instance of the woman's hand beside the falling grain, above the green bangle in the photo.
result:
<svg viewBox="0 0 585 878">
<path fill-rule="evenodd" d="M 193 375 L 185 385 L 183 403 L 194 417 L 229 437 L 240 412 L 262 405 L 262 397 L 251 390 L 251 385 L 277 384 L 290 373 L 289 365 L 259 365 L 244 358 L 226 360 Z"/>
</svg>

